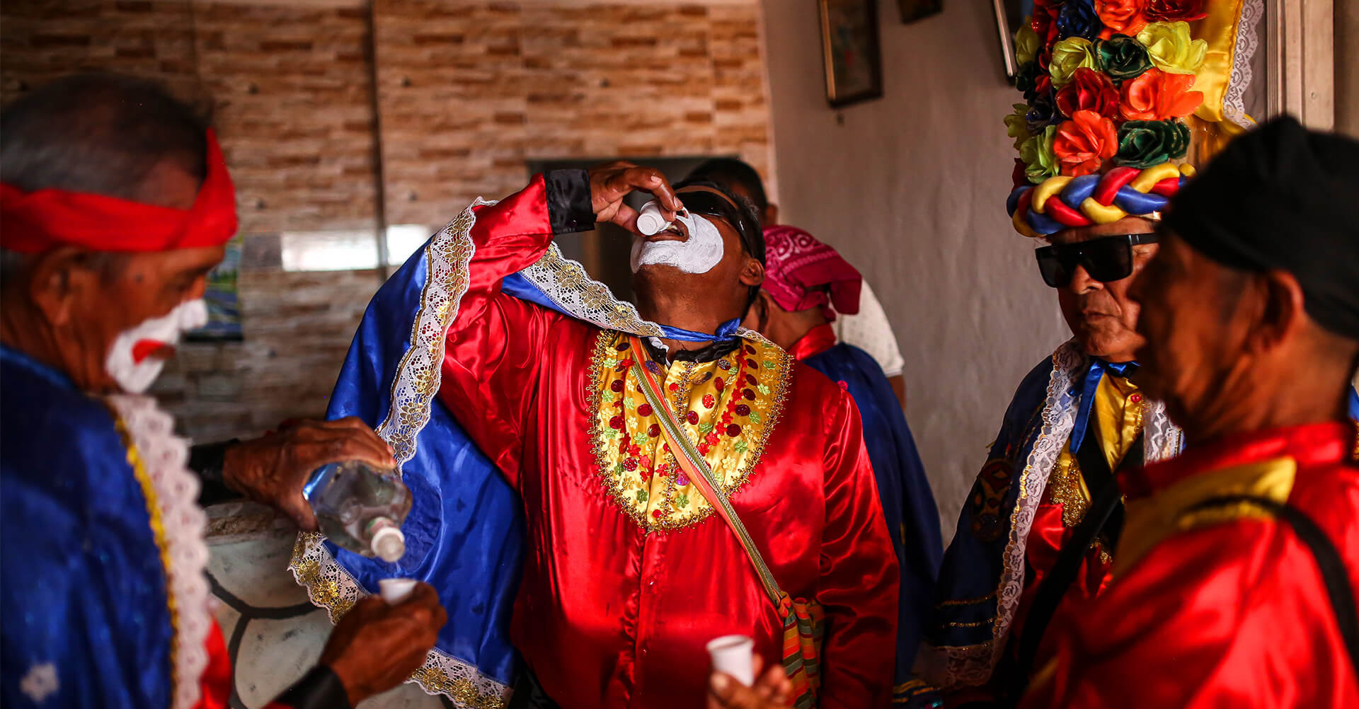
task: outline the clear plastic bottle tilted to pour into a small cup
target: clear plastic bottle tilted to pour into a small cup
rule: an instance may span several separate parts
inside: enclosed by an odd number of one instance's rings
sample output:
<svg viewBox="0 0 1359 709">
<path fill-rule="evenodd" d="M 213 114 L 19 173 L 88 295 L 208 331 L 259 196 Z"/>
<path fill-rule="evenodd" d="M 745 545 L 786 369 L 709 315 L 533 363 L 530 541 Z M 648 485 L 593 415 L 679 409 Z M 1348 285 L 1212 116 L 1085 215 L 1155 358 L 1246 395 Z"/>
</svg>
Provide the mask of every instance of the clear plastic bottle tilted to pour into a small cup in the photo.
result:
<svg viewBox="0 0 1359 709">
<path fill-rule="evenodd" d="M 400 561 L 406 553 L 401 523 L 410 512 L 410 490 L 391 470 L 359 460 L 317 469 L 303 492 L 321 534 L 366 557 Z"/>
</svg>

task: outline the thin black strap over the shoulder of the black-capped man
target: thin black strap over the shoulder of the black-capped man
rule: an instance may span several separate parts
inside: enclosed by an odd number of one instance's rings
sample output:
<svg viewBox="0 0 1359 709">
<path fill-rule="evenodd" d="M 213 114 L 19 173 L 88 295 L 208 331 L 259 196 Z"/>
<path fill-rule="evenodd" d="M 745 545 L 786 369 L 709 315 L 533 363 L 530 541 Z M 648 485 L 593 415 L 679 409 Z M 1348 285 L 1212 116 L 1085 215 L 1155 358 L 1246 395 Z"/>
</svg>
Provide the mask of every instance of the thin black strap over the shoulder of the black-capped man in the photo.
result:
<svg viewBox="0 0 1359 709">
<path fill-rule="evenodd" d="M 1336 550 L 1336 545 L 1330 543 L 1326 532 L 1306 512 L 1268 497 L 1256 497 L 1252 494 L 1211 497 L 1193 505 L 1186 512 L 1230 507 L 1241 503 L 1263 508 L 1276 519 L 1287 523 L 1292 527 L 1292 532 L 1298 535 L 1298 539 L 1311 551 L 1311 558 L 1316 560 L 1317 568 L 1321 570 L 1321 581 L 1326 587 L 1326 596 L 1330 599 L 1330 610 L 1336 617 L 1336 625 L 1340 626 L 1340 637 L 1345 642 L 1345 651 L 1349 652 L 1349 666 L 1354 668 L 1355 676 L 1359 678 L 1359 608 L 1355 607 L 1355 595 L 1349 585 L 1349 572 L 1345 569 L 1344 560 L 1340 557 L 1340 551 Z"/>
</svg>

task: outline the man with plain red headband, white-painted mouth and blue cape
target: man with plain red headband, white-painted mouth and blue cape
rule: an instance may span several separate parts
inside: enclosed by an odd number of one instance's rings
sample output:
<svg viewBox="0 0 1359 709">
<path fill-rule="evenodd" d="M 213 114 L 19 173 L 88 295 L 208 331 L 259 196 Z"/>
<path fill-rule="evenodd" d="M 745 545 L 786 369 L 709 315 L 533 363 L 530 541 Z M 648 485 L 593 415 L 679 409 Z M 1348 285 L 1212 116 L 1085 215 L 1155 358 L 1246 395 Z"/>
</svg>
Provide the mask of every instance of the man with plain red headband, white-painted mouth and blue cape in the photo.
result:
<svg viewBox="0 0 1359 709">
<path fill-rule="evenodd" d="M 223 708 L 198 482 L 141 395 L 236 231 L 222 152 L 158 86 L 77 76 L 4 111 L 0 164 L 0 702 Z M 395 686 L 443 619 L 425 585 L 356 604 L 270 706 Z"/>
</svg>

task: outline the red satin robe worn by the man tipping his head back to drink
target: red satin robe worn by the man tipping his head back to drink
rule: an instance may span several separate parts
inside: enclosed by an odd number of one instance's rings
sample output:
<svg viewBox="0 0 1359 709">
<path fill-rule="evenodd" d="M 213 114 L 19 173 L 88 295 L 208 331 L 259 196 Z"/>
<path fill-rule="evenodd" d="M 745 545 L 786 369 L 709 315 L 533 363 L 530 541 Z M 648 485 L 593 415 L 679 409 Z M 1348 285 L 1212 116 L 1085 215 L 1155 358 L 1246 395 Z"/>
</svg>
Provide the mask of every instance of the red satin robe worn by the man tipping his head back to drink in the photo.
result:
<svg viewBox="0 0 1359 709">
<path fill-rule="evenodd" d="M 708 516 L 648 531 L 602 482 L 601 330 L 500 293 L 552 240 L 542 178 L 480 208 L 472 239 L 439 398 L 523 497 L 511 637 L 544 690 L 565 709 L 694 709 L 709 640 L 746 634 L 779 663 L 780 619 L 731 530 Z M 858 409 L 802 364 L 787 376 L 783 416 L 730 498 L 783 589 L 825 606 L 821 706 L 886 706 L 898 572 Z"/>
</svg>

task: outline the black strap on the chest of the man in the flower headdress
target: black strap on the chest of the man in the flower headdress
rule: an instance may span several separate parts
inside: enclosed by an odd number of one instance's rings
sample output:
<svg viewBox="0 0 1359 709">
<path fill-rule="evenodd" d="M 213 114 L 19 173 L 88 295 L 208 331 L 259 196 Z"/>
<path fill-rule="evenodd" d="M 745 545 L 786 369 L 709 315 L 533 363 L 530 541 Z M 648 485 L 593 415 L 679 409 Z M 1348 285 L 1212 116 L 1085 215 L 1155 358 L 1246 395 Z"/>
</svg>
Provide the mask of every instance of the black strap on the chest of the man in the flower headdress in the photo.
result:
<svg viewBox="0 0 1359 709">
<path fill-rule="evenodd" d="M 1142 450 L 1142 432 L 1137 432 L 1137 437 L 1133 439 L 1132 447 L 1128 448 L 1128 455 L 1124 456 L 1118 469 L 1140 466 Z M 1038 655 L 1038 645 L 1042 642 L 1042 636 L 1048 630 L 1053 614 L 1057 613 L 1057 606 L 1067 596 L 1067 589 L 1080 573 L 1080 562 L 1086 558 L 1086 551 L 1095 543 L 1101 531 L 1108 528 L 1106 537 L 1110 545 L 1118 543 L 1118 534 L 1123 531 L 1123 490 L 1118 489 L 1118 481 L 1109 470 L 1109 460 L 1099 448 L 1099 440 L 1094 431 L 1087 432 L 1082 439 L 1080 448 L 1076 451 L 1076 462 L 1080 465 L 1086 486 L 1090 488 L 1090 507 L 1086 509 L 1086 516 L 1076 524 L 1071 538 L 1057 551 L 1057 561 L 1053 562 L 1052 570 L 1038 584 L 1033 604 L 1025 617 L 1023 633 L 1018 638 L 1014 634 L 1010 636 L 1015 653 L 1008 671 L 1002 674 L 1002 680 L 1010 691 L 1010 697 L 1015 699 L 1023 697 L 1029 687 L 1029 676 Z M 1004 661 L 1010 663 L 1011 660 L 1006 659 Z"/>
</svg>

